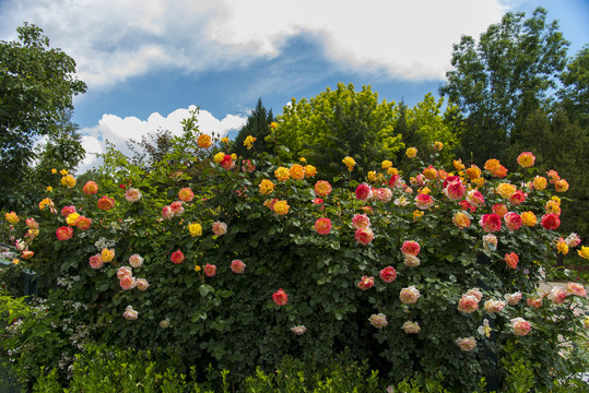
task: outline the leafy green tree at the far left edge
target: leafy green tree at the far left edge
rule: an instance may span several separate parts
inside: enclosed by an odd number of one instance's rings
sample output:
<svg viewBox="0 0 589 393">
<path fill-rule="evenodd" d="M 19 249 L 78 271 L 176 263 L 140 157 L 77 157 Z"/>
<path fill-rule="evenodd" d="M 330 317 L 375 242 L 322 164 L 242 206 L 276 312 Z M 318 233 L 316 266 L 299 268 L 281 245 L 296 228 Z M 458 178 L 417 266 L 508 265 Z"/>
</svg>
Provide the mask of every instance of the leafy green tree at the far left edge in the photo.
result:
<svg viewBox="0 0 589 393">
<path fill-rule="evenodd" d="M 86 85 L 75 79 L 75 61 L 49 49 L 43 29 L 25 23 L 19 41 L 0 43 L 0 202 L 10 207 L 11 188 L 35 157 L 34 142 L 56 135 L 72 97 Z"/>
</svg>

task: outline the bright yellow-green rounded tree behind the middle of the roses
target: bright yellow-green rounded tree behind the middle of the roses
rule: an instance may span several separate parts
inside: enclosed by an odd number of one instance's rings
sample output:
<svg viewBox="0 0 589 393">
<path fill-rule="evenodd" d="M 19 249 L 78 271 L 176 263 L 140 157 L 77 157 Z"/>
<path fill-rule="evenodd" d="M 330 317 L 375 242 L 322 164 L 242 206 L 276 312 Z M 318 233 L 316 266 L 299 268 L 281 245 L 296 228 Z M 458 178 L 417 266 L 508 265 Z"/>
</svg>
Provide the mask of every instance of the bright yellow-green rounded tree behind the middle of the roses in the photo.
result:
<svg viewBox="0 0 589 393">
<path fill-rule="evenodd" d="M 394 103 L 378 103 L 370 86 L 355 92 L 353 84 L 339 83 L 309 102 L 293 98 L 279 116 L 275 134 L 290 159 L 307 158 L 325 178 L 341 174 L 345 156 L 354 158 L 354 175 L 362 177 L 403 147 L 393 130 L 397 111 Z"/>
</svg>

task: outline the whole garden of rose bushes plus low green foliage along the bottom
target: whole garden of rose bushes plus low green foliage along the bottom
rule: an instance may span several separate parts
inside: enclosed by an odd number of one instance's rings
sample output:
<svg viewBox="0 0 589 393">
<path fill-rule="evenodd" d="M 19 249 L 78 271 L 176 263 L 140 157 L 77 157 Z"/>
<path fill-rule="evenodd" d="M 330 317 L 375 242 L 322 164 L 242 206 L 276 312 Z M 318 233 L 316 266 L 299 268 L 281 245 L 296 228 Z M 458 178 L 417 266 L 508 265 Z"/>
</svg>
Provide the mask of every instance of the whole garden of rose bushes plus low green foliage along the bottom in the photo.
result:
<svg viewBox="0 0 589 393">
<path fill-rule="evenodd" d="M 342 155 L 326 178 L 281 146 L 280 121 L 263 141 L 274 153 L 182 124 L 156 167 L 110 146 L 98 170 L 51 168 L 34 213 L 3 213 L 15 255 L 0 346 L 14 386 L 587 388 L 575 377 L 589 369 L 586 283 L 539 291 L 558 255 L 589 259 L 586 239 L 559 230 L 557 168 L 530 152 L 511 170 L 479 167 L 436 142 L 408 146 L 403 169 Z M 25 272 L 36 296 L 22 297 Z"/>
</svg>

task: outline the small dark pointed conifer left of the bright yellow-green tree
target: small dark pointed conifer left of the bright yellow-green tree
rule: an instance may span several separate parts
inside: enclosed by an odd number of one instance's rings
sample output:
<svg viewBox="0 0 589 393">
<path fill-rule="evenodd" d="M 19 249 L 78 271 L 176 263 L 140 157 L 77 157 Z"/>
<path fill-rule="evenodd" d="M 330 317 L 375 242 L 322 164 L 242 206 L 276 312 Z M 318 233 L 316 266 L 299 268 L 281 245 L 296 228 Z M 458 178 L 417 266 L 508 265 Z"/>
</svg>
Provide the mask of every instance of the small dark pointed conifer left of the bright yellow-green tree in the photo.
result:
<svg viewBox="0 0 589 393">
<path fill-rule="evenodd" d="M 273 147 L 271 147 L 269 142 L 266 141 L 266 138 L 270 135 L 270 123 L 274 120 L 272 109 L 267 110 L 262 105 L 262 99 L 258 98 L 256 108 L 251 115 L 249 115 L 246 124 L 239 130 L 237 136 L 235 138 L 235 146 L 233 151 L 243 158 L 250 158 L 254 155 L 254 152 L 272 153 Z M 244 146 L 244 141 L 248 135 L 256 138 L 254 151 Z"/>
</svg>

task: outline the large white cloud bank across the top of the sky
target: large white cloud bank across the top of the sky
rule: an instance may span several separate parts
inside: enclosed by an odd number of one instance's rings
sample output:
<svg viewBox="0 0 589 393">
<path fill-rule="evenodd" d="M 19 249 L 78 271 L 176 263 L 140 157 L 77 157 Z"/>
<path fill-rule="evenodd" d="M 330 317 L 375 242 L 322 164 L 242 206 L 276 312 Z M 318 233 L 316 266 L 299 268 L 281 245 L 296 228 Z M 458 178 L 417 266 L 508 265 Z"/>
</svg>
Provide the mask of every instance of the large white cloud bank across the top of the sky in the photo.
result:
<svg viewBox="0 0 589 393">
<path fill-rule="evenodd" d="M 276 57 L 299 34 L 349 71 L 439 79 L 451 45 L 497 22 L 502 1 L 8 0 L 0 37 L 13 39 L 21 21 L 42 26 L 91 87 L 158 69 L 231 70 Z"/>
</svg>

